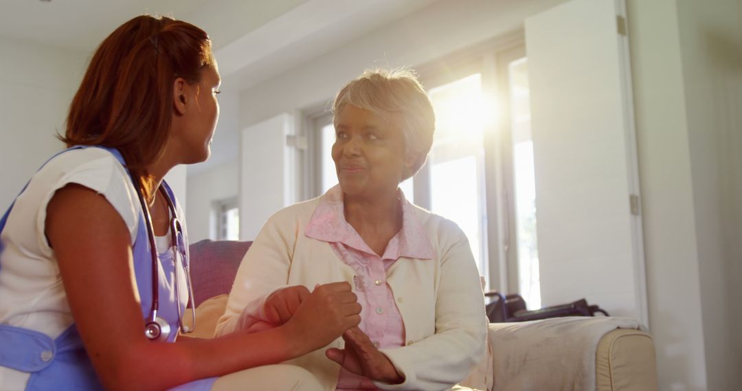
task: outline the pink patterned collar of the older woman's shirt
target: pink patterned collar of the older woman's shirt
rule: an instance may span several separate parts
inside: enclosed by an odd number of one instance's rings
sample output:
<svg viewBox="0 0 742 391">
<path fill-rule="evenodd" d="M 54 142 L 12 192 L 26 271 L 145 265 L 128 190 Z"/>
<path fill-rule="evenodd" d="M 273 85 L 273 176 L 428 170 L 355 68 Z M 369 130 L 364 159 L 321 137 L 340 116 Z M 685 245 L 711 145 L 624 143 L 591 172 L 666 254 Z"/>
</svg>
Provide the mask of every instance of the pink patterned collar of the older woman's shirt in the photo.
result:
<svg viewBox="0 0 742 391">
<path fill-rule="evenodd" d="M 399 257 L 431 259 L 435 256 L 433 245 L 427 238 L 426 230 L 418 219 L 413 205 L 397 190 L 402 206 L 402 228 L 387 244 L 382 259 Z M 363 241 L 361 235 L 345 220 L 343 191 L 340 185 L 327 190 L 315 209 L 304 235 L 321 241 L 342 243 L 364 253 L 375 253 Z"/>
</svg>

